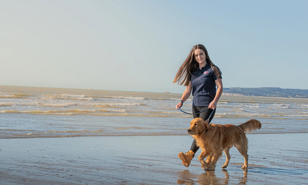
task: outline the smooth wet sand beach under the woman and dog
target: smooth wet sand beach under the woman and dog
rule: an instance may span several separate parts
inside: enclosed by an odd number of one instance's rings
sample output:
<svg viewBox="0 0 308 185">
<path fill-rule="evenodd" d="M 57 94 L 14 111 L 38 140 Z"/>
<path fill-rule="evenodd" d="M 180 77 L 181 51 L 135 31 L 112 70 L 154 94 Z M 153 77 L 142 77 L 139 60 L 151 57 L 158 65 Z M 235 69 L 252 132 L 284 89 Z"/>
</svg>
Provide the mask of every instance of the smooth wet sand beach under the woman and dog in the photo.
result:
<svg viewBox="0 0 308 185">
<path fill-rule="evenodd" d="M 233 147 L 213 171 L 182 165 L 188 135 L 0 139 L 0 184 L 308 184 L 308 134 L 247 138 L 247 170 Z"/>
</svg>

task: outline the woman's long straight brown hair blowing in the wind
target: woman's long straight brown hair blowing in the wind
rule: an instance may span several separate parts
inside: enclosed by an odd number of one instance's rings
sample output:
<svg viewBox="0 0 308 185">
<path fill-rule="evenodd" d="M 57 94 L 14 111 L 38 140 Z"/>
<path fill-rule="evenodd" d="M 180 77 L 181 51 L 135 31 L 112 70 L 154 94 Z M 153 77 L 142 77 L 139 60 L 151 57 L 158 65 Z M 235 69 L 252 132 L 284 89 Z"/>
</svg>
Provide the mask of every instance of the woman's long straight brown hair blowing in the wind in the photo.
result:
<svg viewBox="0 0 308 185">
<path fill-rule="evenodd" d="M 191 80 L 192 73 L 199 67 L 199 63 L 195 61 L 195 50 L 196 49 L 202 49 L 206 56 L 206 63 L 209 63 L 212 70 L 214 71 L 215 75 L 217 77 L 220 77 L 222 75 L 220 69 L 213 64 L 211 61 L 208 51 L 202 44 L 198 44 L 192 48 L 192 50 L 189 52 L 186 60 L 181 65 L 180 69 L 177 71 L 176 76 L 173 80 L 173 83 L 178 83 L 180 85 L 187 86 L 189 84 L 189 81 Z"/>
</svg>

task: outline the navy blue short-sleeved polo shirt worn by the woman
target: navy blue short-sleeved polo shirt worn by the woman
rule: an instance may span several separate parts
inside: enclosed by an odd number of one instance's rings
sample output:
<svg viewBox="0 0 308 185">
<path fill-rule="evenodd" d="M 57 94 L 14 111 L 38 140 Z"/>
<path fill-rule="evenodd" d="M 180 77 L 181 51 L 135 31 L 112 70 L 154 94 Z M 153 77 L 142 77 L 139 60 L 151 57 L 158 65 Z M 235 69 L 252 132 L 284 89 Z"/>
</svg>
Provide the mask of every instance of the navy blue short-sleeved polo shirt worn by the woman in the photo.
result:
<svg viewBox="0 0 308 185">
<path fill-rule="evenodd" d="M 209 63 L 201 68 L 201 70 L 197 68 L 192 74 L 193 106 L 209 106 L 216 95 L 215 80 L 222 77 L 215 75 Z"/>
</svg>

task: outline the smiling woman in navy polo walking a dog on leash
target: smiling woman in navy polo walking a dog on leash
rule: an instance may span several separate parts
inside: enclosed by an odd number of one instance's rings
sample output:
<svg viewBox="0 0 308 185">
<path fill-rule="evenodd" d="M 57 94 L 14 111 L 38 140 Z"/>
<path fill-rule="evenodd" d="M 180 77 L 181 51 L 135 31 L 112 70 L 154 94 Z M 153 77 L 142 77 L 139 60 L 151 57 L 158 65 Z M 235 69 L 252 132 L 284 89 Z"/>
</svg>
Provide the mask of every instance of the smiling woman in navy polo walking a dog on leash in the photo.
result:
<svg viewBox="0 0 308 185">
<path fill-rule="evenodd" d="M 193 113 L 199 113 L 205 109 L 205 112 L 194 114 L 193 118 L 200 117 L 207 120 L 211 113 L 209 122 L 213 119 L 216 106 L 221 93 L 222 77 L 220 69 L 211 61 L 208 51 L 202 44 L 198 44 L 192 48 L 184 63 L 176 73 L 173 83 L 186 86 L 186 89 L 176 105 L 176 109 L 181 108 L 183 103 L 193 94 Z M 216 90 L 217 86 L 217 90 Z M 209 109 L 208 109 L 209 108 Z M 185 167 L 188 167 L 191 160 L 199 147 L 196 146 L 195 140 L 187 154 L 179 153 L 179 158 Z M 207 163 L 211 160 L 208 156 Z"/>
</svg>

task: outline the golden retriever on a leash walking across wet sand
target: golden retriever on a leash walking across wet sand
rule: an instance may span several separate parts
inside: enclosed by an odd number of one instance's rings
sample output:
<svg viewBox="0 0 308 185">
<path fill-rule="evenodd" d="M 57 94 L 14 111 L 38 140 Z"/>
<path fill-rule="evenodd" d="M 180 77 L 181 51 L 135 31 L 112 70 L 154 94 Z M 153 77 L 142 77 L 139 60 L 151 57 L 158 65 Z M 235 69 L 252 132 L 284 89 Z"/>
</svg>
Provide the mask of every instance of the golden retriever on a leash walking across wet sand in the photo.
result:
<svg viewBox="0 0 308 185">
<path fill-rule="evenodd" d="M 209 124 L 201 118 L 195 118 L 190 122 L 190 127 L 187 129 L 188 134 L 193 135 L 197 146 L 202 150 L 198 159 L 201 166 L 206 167 L 205 170 L 212 170 L 217 159 L 221 157 L 222 151 L 226 154 L 226 162 L 222 168 L 226 168 L 230 161 L 229 150 L 233 146 L 243 155 L 245 162 L 242 169 L 248 167 L 248 140 L 245 133 L 261 128 L 260 121 L 251 119 L 241 125 L 217 125 Z M 204 161 L 208 155 L 213 155 L 212 158 Z"/>
</svg>

